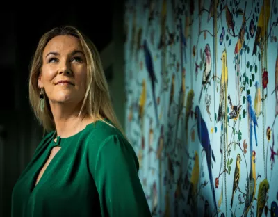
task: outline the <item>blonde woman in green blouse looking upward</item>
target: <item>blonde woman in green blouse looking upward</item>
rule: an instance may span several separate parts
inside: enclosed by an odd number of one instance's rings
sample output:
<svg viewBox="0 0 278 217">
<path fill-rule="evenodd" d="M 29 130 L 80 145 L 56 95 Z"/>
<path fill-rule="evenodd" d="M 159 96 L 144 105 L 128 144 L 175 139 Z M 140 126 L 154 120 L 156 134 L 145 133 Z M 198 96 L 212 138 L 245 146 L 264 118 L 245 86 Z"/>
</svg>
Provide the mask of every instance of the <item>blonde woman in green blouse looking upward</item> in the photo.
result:
<svg viewBox="0 0 278 217">
<path fill-rule="evenodd" d="M 151 216 L 137 156 L 85 35 L 65 26 L 42 36 L 29 95 L 48 133 L 15 184 L 12 216 Z"/>
</svg>

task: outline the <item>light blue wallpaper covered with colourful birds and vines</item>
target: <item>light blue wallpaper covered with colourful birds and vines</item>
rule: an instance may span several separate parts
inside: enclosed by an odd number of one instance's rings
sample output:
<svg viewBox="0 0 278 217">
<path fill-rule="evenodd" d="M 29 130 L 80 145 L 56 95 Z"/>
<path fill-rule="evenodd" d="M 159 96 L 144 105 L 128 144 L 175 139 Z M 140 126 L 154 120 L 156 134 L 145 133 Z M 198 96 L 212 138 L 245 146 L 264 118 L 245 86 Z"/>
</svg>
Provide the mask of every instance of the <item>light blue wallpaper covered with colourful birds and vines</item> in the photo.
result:
<svg viewBox="0 0 278 217">
<path fill-rule="evenodd" d="M 278 1 L 127 0 L 126 135 L 153 216 L 278 215 Z"/>
</svg>

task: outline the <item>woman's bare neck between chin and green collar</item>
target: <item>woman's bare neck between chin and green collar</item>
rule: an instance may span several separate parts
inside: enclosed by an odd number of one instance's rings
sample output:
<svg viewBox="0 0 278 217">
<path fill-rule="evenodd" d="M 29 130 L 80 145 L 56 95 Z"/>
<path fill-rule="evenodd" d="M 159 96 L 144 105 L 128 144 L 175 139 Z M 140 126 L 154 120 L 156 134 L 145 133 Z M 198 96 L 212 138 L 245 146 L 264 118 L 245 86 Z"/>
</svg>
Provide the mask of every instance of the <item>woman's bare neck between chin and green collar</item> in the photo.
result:
<svg viewBox="0 0 278 217">
<path fill-rule="evenodd" d="M 54 117 L 57 136 L 67 138 L 77 134 L 84 129 L 88 124 L 94 121 L 85 113 L 80 113 L 81 104 L 72 106 L 70 104 L 51 104 L 51 112 Z"/>
</svg>

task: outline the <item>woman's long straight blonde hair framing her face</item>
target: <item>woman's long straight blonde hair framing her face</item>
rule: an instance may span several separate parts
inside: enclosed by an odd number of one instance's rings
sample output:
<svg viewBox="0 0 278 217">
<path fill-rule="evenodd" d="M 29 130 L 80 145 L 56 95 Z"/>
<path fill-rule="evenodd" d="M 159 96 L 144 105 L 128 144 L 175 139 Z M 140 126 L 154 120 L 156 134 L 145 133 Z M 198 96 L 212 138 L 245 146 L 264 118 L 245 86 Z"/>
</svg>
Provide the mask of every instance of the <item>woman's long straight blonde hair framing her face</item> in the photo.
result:
<svg viewBox="0 0 278 217">
<path fill-rule="evenodd" d="M 85 54 L 88 69 L 86 79 L 87 88 L 79 116 L 82 111 L 85 110 L 88 115 L 92 118 L 96 118 L 97 120 L 106 122 L 104 119 L 107 118 L 113 125 L 109 122 L 106 123 L 111 125 L 111 127 L 116 127 L 124 135 L 124 130 L 122 129 L 120 122 L 117 120 L 115 111 L 113 110 L 108 83 L 104 75 L 104 69 L 101 65 L 99 52 L 92 41 L 74 26 L 56 27 L 47 33 L 44 33 L 38 42 L 35 55 L 31 60 L 29 99 L 36 118 L 44 128 L 44 132 L 53 131 L 56 127 L 51 113 L 49 100 L 46 95 L 44 95 L 44 111 L 40 111 L 40 88 L 38 87 L 38 77 L 42 69 L 42 53 L 44 51 L 44 47 L 47 45 L 49 40 L 58 35 L 71 35 L 78 38 Z"/>
</svg>

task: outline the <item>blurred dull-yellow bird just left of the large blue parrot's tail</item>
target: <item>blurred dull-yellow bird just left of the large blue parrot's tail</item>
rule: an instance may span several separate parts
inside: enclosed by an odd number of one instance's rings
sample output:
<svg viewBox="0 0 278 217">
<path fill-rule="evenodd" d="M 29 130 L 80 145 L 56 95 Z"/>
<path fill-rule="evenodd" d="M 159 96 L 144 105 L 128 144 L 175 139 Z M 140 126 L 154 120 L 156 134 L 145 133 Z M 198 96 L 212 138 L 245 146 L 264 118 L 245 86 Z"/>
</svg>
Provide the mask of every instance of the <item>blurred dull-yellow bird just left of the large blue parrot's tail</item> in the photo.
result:
<svg viewBox="0 0 278 217">
<path fill-rule="evenodd" d="M 198 182 L 199 182 L 199 155 L 198 152 L 195 151 L 194 166 L 191 172 L 187 204 L 190 204 L 190 200 L 191 202 L 193 202 L 193 204 L 197 202 L 196 199 L 197 199 L 197 192 L 198 192 Z"/>
</svg>

